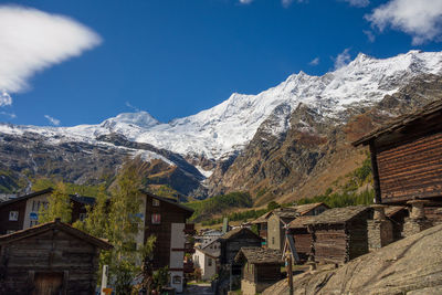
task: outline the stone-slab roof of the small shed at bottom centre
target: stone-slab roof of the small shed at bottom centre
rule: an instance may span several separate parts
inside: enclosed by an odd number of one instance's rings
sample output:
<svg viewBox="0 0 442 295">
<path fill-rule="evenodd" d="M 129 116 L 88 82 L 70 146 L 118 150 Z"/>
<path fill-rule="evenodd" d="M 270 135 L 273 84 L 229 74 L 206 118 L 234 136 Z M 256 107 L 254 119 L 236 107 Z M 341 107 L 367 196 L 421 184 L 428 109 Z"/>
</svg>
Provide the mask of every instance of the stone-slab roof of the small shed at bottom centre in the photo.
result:
<svg viewBox="0 0 442 295">
<path fill-rule="evenodd" d="M 259 246 L 243 246 L 238 252 L 234 261 L 248 261 L 251 264 L 282 264 L 282 253 L 275 249 L 263 249 Z"/>
</svg>

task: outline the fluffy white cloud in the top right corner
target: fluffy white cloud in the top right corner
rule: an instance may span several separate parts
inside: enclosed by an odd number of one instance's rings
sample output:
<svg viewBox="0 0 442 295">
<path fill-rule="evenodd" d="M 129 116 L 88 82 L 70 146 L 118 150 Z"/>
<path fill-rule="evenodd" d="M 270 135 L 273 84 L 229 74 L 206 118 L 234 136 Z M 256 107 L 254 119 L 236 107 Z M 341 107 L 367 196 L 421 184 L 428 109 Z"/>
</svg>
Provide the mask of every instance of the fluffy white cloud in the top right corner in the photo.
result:
<svg viewBox="0 0 442 295">
<path fill-rule="evenodd" d="M 365 17 L 381 32 L 391 27 L 421 44 L 442 35 L 442 0 L 390 0 Z"/>
</svg>

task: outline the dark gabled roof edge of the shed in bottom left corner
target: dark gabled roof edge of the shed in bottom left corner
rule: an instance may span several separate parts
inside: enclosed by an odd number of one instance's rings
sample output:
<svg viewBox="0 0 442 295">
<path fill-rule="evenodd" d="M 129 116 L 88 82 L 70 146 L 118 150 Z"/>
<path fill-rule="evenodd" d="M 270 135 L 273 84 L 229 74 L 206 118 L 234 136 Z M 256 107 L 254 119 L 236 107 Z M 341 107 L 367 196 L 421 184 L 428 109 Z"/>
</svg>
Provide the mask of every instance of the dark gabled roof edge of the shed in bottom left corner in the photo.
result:
<svg viewBox="0 0 442 295">
<path fill-rule="evenodd" d="M 33 236 L 33 235 L 36 235 L 36 234 L 40 234 L 40 233 L 43 233 L 46 231 L 51 231 L 51 230 L 59 230 L 59 231 L 66 232 L 71 235 L 78 238 L 82 241 L 85 241 L 90 244 L 93 244 L 93 245 L 104 249 L 104 250 L 112 250 L 114 247 L 107 241 L 99 239 L 99 238 L 95 238 L 84 231 L 81 231 L 78 229 L 71 226 L 67 223 L 61 222 L 60 219 L 35 225 L 35 226 L 29 228 L 27 230 L 21 230 L 21 231 L 17 231 L 14 233 L 0 235 L 0 245 L 9 244 L 14 241 L 27 239 L 29 236 Z"/>
</svg>

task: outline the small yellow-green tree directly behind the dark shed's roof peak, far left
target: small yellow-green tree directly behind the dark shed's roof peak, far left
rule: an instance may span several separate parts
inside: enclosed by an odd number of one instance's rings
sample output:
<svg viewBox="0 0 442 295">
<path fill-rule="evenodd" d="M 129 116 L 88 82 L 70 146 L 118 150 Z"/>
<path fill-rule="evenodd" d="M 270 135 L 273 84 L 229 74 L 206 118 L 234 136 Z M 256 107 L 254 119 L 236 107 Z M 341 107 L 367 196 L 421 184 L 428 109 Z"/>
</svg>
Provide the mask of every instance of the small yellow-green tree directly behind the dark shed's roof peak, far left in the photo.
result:
<svg viewBox="0 0 442 295">
<path fill-rule="evenodd" d="M 39 210 L 39 223 L 50 222 L 56 218 L 66 223 L 72 221 L 71 199 L 63 182 L 56 183 L 48 198 L 48 207 L 42 206 Z"/>
</svg>

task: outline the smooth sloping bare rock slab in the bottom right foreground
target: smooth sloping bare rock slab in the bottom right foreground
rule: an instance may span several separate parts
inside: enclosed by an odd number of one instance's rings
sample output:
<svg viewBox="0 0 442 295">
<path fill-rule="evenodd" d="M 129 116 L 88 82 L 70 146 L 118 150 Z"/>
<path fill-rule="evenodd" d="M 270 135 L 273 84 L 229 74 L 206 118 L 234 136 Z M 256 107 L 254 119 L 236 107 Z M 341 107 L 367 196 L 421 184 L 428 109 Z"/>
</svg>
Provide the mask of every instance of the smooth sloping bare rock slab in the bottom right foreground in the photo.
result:
<svg viewBox="0 0 442 295">
<path fill-rule="evenodd" d="M 442 225 L 360 256 L 337 270 L 294 276 L 294 294 L 442 294 L 440 253 Z M 288 294 L 286 280 L 264 294 Z"/>
</svg>

